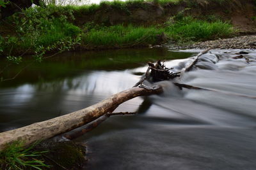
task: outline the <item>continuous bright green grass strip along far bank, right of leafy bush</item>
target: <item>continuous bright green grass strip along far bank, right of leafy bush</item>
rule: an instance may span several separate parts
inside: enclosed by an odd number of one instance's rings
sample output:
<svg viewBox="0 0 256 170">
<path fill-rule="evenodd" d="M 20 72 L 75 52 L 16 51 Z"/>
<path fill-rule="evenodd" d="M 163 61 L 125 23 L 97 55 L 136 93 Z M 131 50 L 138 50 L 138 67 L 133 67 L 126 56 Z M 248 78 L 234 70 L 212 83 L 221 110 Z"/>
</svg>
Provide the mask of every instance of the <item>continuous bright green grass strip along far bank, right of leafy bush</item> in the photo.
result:
<svg viewBox="0 0 256 170">
<path fill-rule="evenodd" d="M 175 41 L 204 41 L 234 34 L 232 25 L 216 20 L 207 22 L 193 17 L 183 17 L 164 26 L 141 27 L 133 25 L 86 26 L 82 41 L 88 46 L 155 45 L 157 35 L 164 32 Z M 161 43 L 161 42 L 160 42 Z"/>
</svg>

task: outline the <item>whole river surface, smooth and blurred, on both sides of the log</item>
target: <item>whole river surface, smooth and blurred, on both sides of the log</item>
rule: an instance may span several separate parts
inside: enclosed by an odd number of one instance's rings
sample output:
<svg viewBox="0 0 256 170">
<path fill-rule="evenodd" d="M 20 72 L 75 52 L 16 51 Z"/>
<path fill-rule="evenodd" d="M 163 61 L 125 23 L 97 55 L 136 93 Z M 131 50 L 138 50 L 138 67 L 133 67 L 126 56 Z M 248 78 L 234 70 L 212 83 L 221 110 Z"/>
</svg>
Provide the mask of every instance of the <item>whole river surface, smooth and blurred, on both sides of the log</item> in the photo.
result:
<svg viewBox="0 0 256 170">
<path fill-rule="evenodd" d="M 166 59 L 179 71 L 199 51 L 168 49 L 66 53 L 1 84 L 0 131 L 76 111 L 132 87 L 145 61 Z M 162 81 L 160 96 L 137 97 L 76 139 L 88 145 L 84 169 L 256 169 L 256 52 L 211 50 L 196 69 Z M 12 75 L 12 71 L 6 76 Z"/>
</svg>

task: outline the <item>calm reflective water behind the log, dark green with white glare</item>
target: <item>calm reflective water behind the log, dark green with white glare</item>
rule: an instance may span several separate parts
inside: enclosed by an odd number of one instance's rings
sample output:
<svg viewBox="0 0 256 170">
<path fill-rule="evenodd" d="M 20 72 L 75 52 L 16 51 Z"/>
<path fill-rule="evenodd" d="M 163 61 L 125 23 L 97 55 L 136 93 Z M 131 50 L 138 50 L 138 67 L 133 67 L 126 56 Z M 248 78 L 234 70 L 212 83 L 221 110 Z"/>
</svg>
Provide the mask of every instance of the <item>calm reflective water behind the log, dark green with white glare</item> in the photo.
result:
<svg viewBox="0 0 256 170">
<path fill-rule="evenodd" d="M 130 69 L 148 60 L 189 55 L 163 48 L 106 50 L 62 53 L 33 64 L 15 80 L 0 83 L 0 131 L 70 113 L 128 89 L 140 78 Z M 29 62 L 24 60 L 24 65 Z M 3 60 L 0 63 L 6 65 Z M 12 77 L 22 67 L 9 67 L 3 76 Z"/>
</svg>

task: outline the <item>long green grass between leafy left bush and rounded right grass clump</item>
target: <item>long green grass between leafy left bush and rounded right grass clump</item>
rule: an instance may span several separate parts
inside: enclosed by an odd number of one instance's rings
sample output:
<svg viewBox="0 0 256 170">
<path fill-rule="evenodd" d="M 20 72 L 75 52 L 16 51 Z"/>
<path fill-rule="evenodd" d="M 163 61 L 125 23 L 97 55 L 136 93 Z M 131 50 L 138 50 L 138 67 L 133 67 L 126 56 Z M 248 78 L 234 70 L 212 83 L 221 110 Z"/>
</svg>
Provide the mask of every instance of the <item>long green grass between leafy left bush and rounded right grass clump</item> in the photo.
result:
<svg viewBox="0 0 256 170">
<path fill-rule="evenodd" d="M 132 25 L 87 26 L 82 42 L 86 45 L 124 46 L 156 43 L 157 34 L 161 29 L 156 27 L 135 27 Z"/>
</svg>

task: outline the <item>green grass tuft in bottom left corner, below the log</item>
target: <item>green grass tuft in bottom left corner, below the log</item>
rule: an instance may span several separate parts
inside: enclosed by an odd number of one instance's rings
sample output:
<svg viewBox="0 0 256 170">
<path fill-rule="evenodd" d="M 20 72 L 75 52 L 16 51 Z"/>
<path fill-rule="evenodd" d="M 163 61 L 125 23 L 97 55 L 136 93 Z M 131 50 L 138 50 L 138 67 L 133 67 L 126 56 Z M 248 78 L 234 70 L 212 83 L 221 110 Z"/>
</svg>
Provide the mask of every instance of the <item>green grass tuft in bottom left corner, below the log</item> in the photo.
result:
<svg viewBox="0 0 256 170">
<path fill-rule="evenodd" d="M 42 169 L 42 167 L 49 167 L 44 164 L 44 161 L 36 159 L 44 152 L 35 152 L 33 148 L 37 143 L 24 148 L 22 142 L 16 141 L 3 151 L 0 152 L 0 167 L 1 169 Z"/>
</svg>

